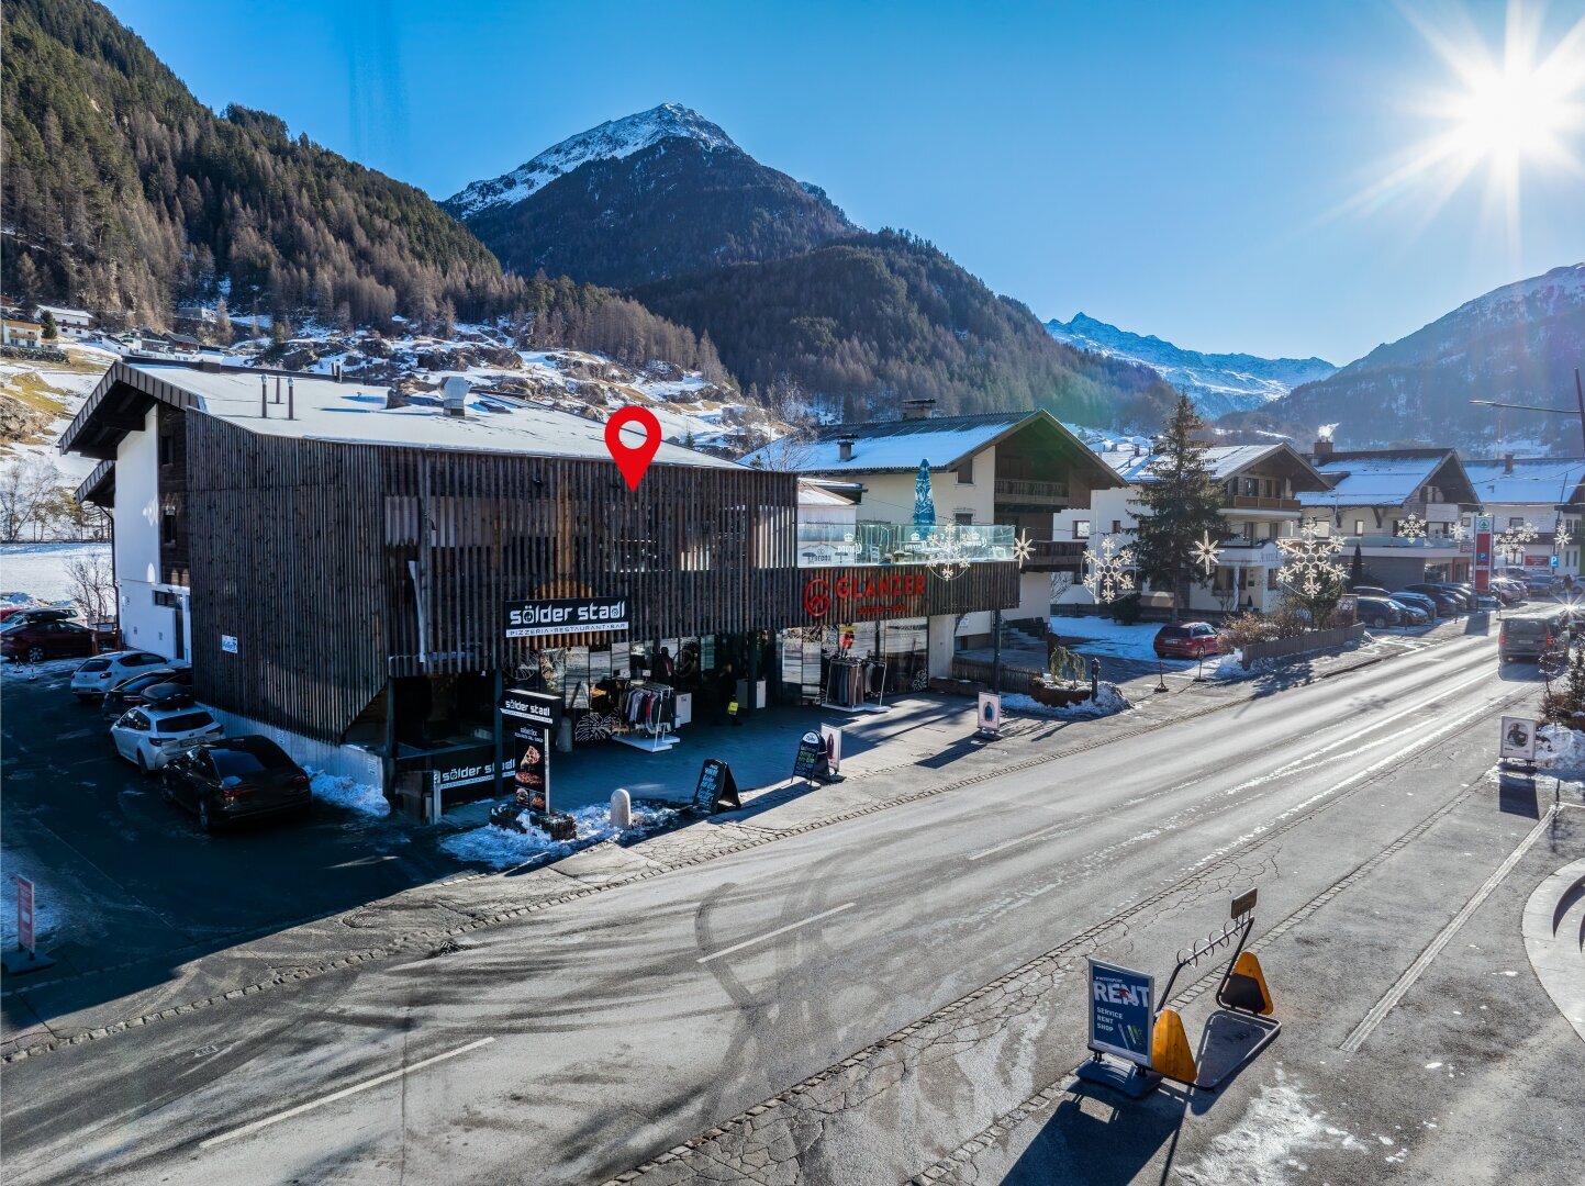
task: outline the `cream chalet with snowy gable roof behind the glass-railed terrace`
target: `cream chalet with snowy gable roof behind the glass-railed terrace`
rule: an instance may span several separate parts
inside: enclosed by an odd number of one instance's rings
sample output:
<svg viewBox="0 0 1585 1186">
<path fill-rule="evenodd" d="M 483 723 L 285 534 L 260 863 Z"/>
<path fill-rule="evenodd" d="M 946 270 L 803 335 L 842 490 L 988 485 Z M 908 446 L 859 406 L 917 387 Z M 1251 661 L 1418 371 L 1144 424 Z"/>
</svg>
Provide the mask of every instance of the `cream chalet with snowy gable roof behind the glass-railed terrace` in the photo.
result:
<svg viewBox="0 0 1585 1186">
<path fill-rule="evenodd" d="M 922 465 L 935 523 L 957 528 L 959 545 L 1011 560 L 1013 541 L 1027 541 L 1018 604 L 1003 622 L 1045 636 L 1052 576 L 1067 583 L 1084 557 L 1083 541 L 1054 539 L 1052 515 L 1089 507 L 1092 495 L 1121 488 L 1122 479 L 1051 412 L 935 417 L 934 403 L 907 401 L 900 420 L 824 425 L 812 441 L 773 442 L 743 463 L 857 484 L 861 542 L 883 525 L 900 526 L 902 547 L 927 552 L 932 533 L 911 530 Z M 965 614 L 949 634 L 932 634 L 930 672 L 946 674 L 957 650 L 991 645 L 994 622 L 987 607 Z"/>
</svg>

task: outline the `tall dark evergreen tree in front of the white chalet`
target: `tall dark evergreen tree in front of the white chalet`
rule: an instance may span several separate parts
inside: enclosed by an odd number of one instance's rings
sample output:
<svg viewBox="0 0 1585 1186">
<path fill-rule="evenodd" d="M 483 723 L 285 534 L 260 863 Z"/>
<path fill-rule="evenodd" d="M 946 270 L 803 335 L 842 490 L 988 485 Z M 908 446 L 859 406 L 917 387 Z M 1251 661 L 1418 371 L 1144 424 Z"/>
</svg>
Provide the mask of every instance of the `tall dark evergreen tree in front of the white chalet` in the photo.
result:
<svg viewBox="0 0 1585 1186">
<path fill-rule="evenodd" d="M 1224 534 L 1222 488 L 1206 465 L 1203 431 L 1194 404 L 1179 395 L 1155 438 L 1152 480 L 1140 484 L 1136 499 L 1135 563 L 1152 588 L 1171 591 L 1173 618 L 1189 604 L 1189 587 L 1205 574 L 1194 558 L 1195 544 L 1205 533 L 1213 539 Z"/>
</svg>

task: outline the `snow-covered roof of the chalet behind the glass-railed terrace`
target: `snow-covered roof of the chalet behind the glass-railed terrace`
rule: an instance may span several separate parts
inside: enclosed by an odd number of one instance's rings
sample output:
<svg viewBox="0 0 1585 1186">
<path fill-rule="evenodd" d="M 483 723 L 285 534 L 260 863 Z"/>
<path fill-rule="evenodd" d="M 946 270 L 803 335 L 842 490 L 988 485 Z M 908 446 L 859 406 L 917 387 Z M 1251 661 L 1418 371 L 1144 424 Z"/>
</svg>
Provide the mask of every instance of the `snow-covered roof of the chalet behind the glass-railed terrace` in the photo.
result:
<svg viewBox="0 0 1585 1186">
<path fill-rule="evenodd" d="M 783 468 L 813 474 L 873 472 L 878 469 L 918 469 L 929 461 L 932 469 L 948 466 L 983 449 L 1008 428 L 1029 419 L 1029 412 L 1000 415 L 954 415 L 940 420 L 886 420 L 880 423 L 843 423 L 819 430 L 819 438 L 783 449 L 791 457 L 780 458 Z M 853 457 L 842 460 L 842 441 L 853 441 Z M 773 463 L 766 449 L 743 458 Z M 791 465 L 788 465 L 791 461 Z"/>
</svg>

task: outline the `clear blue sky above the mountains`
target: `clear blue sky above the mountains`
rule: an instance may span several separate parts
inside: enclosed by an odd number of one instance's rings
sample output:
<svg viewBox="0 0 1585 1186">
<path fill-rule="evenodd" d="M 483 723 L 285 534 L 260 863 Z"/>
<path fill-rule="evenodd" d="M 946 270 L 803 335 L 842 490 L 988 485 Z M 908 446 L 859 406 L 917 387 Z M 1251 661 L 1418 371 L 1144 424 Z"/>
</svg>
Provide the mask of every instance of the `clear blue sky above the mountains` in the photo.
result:
<svg viewBox="0 0 1585 1186">
<path fill-rule="evenodd" d="M 204 103 L 437 198 L 675 100 L 1041 320 L 1200 350 L 1342 363 L 1585 258 L 1585 174 L 1526 163 L 1512 225 L 1482 173 L 1358 201 L 1441 127 L 1425 95 L 1455 78 L 1422 30 L 1499 48 L 1496 3 L 109 6 Z M 1585 2 L 1537 19 L 1556 43 Z"/>
</svg>

